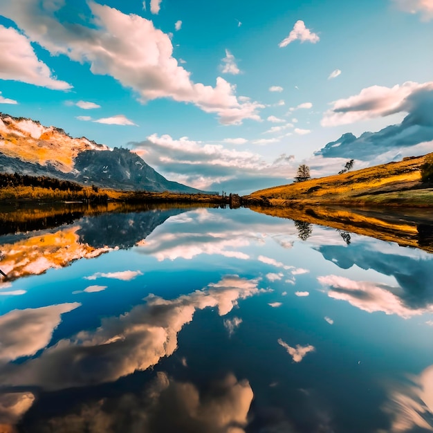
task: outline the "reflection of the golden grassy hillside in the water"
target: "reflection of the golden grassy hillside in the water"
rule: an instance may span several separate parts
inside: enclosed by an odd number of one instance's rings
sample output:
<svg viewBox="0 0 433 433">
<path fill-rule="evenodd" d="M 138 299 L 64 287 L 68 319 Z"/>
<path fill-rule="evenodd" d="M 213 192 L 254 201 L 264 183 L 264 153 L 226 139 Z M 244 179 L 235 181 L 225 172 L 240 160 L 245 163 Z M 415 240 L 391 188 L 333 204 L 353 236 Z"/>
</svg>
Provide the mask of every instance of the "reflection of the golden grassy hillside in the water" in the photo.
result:
<svg viewBox="0 0 433 433">
<path fill-rule="evenodd" d="M 279 216 L 279 218 L 327 225 L 345 232 L 353 232 L 383 241 L 396 242 L 400 246 L 412 246 L 433 252 L 433 216 L 416 210 L 379 211 L 347 210 L 342 208 L 262 208 L 252 206 L 255 212 Z"/>
</svg>

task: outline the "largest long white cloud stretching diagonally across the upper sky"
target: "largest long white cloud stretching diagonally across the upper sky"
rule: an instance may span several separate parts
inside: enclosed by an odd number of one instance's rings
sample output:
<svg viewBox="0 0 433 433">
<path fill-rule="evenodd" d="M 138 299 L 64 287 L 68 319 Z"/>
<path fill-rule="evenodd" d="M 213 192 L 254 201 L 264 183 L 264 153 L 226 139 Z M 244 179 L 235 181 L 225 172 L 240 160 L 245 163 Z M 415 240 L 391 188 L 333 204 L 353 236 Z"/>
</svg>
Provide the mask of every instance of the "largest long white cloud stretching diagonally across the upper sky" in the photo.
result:
<svg viewBox="0 0 433 433">
<path fill-rule="evenodd" d="M 192 82 L 190 72 L 173 57 L 169 35 L 156 29 L 151 20 L 94 1 L 88 4 L 92 14 L 89 26 L 58 21 L 53 9 L 61 8 L 61 2 L 47 8 L 36 0 L 20 4 L 6 0 L 3 13 L 51 54 L 90 64 L 95 75 L 111 75 L 136 91 L 142 102 L 171 98 L 192 103 L 206 113 L 215 113 L 225 125 L 260 120 L 258 110 L 264 106 L 239 102 L 234 86 L 222 77 L 216 78 L 214 87 Z M 157 13 L 159 8 L 160 1 L 152 0 L 151 11 Z M 76 21 L 83 19 L 76 17 Z"/>
</svg>

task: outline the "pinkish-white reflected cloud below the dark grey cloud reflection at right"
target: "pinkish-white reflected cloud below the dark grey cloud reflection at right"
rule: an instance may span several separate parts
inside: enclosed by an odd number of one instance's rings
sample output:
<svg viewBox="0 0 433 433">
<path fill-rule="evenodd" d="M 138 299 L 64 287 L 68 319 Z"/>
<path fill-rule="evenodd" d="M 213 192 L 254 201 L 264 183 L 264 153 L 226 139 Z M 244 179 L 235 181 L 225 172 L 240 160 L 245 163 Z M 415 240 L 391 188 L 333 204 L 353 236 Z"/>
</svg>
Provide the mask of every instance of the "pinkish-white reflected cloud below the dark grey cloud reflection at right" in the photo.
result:
<svg viewBox="0 0 433 433">
<path fill-rule="evenodd" d="M 424 308 L 407 306 L 403 299 L 403 288 L 371 282 L 357 282 L 338 275 L 317 277 L 317 280 L 328 290 L 328 296 L 344 300 L 360 310 L 374 313 L 396 314 L 405 319 L 414 315 L 432 312 L 433 305 Z"/>
</svg>

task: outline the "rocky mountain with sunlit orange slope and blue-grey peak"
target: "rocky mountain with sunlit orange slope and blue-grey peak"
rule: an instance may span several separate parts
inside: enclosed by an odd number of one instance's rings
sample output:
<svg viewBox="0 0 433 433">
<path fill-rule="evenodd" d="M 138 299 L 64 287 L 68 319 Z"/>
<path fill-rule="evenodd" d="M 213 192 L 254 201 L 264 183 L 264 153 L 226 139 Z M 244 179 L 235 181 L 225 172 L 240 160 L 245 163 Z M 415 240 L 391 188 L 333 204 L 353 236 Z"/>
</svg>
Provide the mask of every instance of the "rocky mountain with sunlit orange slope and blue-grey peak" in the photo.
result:
<svg viewBox="0 0 433 433">
<path fill-rule="evenodd" d="M 110 149 L 5 113 L 0 113 L 0 172 L 50 176 L 116 190 L 204 192 L 168 181 L 129 149 Z"/>
</svg>

